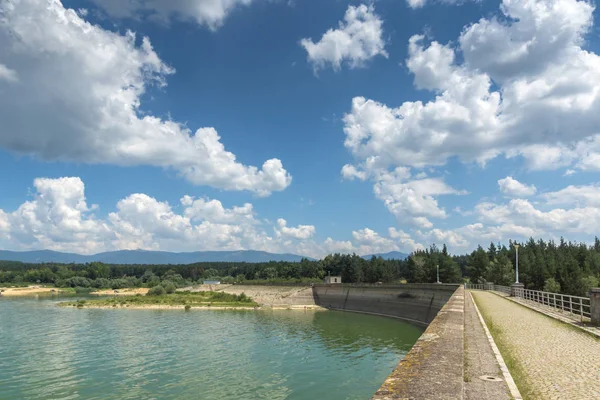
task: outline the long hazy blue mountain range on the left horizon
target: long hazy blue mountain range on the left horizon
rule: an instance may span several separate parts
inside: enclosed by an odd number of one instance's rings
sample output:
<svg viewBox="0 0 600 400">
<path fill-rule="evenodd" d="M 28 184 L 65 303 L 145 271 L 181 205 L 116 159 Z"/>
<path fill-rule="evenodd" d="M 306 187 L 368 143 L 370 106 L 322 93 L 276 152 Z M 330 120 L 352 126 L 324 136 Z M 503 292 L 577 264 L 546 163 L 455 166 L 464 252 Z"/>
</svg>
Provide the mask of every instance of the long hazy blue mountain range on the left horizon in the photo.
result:
<svg viewBox="0 0 600 400">
<path fill-rule="evenodd" d="M 120 250 L 89 256 L 75 253 L 61 253 L 52 250 L 8 251 L 0 250 L 0 260 L 21 261 L 26 263 L 89 263 L 104 262 L 109 264 L 192 264 L 203 261 L 230 262 L 268 262 L 268 261 L 300 261 L 296 254 L 274 254 L 266 251 L 194 251 L 190 253 L 171 253 L 168 251 Z"/>
</svg>

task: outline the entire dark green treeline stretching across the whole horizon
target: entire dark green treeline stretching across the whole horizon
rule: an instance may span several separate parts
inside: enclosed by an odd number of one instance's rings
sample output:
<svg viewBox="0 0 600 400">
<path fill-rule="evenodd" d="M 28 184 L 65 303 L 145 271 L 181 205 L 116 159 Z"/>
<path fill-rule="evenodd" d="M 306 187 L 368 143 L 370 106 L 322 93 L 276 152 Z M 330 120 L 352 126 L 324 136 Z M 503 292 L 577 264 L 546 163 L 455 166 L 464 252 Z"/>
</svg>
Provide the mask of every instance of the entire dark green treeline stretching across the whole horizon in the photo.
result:
<svg viewBox="0 0 600 400">
<path fill-rule="evenodd" d="M 119 289 L 125 287 L 184 287 L 204 279 L 223 283 L 320 282 L 327 274 L 346 283 L 494 282 L 515 280 L 515 243 L 479 246 L 470 254 L 450 255 L 446 246 L 416 251 L 406 260 L 365 260 L 356 254 L 331 254 L 318 261 L 201 262 L 187 265 L 27 264 L 0 261 L 1 284 L 40 283 L 58 287 Z M 519 278 L 525 287 L 585 295 L 600 278 L 600 240 L 559 243 L 530 239 L 519 248 Z"/>
</svg>

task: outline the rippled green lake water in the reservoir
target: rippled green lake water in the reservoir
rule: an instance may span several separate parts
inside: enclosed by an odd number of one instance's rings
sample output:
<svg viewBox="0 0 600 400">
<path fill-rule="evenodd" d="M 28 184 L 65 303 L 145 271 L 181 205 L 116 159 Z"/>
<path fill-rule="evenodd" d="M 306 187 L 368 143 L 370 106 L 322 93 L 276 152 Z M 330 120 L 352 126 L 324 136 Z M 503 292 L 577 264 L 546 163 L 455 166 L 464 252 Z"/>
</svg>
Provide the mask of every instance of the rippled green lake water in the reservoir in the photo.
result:
<svg viewBox="0 0 600 400">
<path fill-rule="evenodd" d="M 335 311 L 0 299 L 0 399 L 369 399 L 422 329 Z"/>
</svg>

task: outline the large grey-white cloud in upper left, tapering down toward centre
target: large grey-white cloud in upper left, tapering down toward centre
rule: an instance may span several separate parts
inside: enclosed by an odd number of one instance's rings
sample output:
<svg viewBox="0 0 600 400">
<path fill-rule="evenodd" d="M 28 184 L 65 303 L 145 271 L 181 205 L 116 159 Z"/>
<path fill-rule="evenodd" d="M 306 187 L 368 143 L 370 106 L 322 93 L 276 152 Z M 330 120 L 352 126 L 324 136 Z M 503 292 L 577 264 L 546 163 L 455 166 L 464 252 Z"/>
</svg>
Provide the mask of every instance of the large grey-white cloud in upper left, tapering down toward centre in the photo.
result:
<svg viewBox="0 0 600 400">
<path fill-rule="evenodd" d="M 2 86 L 1 147 L 43 160 L 169 168 L 197 185 L 259 196 L 291 183 L 278 159 L 260 169 L 238 162 L 214 128 L 192 132 L 143 115 L 141 97 L 175 72 L 148 38 L 137 46 L 133 32 L 106 31 L 58 1 L 0 0 L 0 8 L 0 59 L 19 78 Z"/>
</svg>

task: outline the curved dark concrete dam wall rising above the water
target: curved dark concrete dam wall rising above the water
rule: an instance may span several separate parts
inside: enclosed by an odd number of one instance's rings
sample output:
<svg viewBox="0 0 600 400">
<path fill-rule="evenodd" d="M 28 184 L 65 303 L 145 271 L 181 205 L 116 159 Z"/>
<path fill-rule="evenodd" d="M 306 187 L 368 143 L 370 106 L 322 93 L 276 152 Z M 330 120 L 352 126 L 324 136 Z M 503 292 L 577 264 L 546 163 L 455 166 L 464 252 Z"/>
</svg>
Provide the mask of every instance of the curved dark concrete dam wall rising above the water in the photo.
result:
<svg viewBox="0 0 600 400">
<path fill-rule="evenodd" d="M 429 324 L 459 285 L 315 285 L 315 304 L 332 310 L 384 315 Z"/>
</svg>

